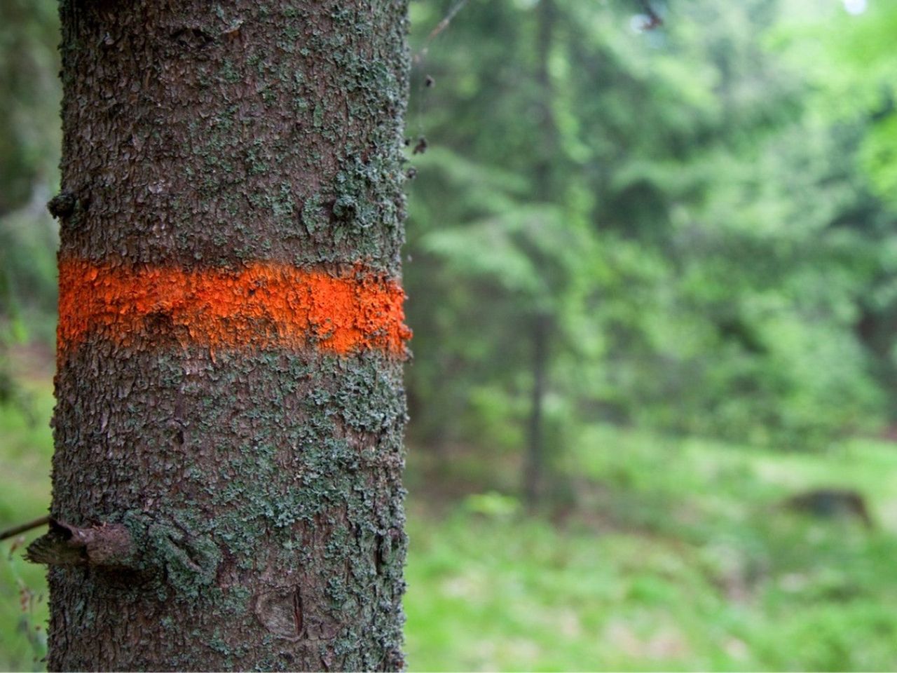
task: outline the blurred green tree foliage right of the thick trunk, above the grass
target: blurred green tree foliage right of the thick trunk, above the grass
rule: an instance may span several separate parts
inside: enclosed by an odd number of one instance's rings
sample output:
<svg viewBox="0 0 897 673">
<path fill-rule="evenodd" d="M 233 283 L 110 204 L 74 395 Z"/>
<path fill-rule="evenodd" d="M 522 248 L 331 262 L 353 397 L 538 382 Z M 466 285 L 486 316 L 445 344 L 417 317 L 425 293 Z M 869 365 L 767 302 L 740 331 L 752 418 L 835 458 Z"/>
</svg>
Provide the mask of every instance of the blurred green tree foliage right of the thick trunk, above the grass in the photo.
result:
<svg viewBox="0 0 897 673">
<path fill-rule="evenodd" d="M 874 428 L 897 380 L 889 127 L 820 114 L 781 48 L 812 52 L 794 20 L 818 3 L 669 3 L 639 33 L 625 3 L 545 2 L 471 3 L 435 37 L 445 8 L 415 5 L 412 432 L 524 423 L 534 315 L 555 444 L 598 419 L 803 449 Z"/>
</svg>

